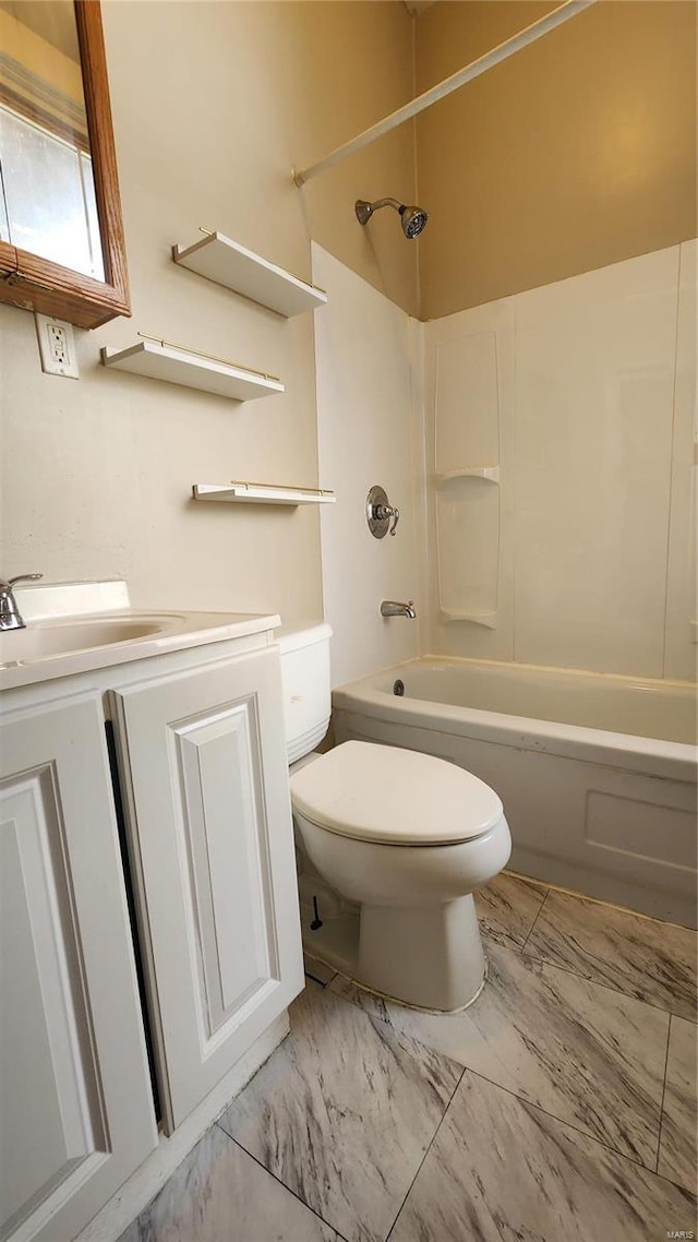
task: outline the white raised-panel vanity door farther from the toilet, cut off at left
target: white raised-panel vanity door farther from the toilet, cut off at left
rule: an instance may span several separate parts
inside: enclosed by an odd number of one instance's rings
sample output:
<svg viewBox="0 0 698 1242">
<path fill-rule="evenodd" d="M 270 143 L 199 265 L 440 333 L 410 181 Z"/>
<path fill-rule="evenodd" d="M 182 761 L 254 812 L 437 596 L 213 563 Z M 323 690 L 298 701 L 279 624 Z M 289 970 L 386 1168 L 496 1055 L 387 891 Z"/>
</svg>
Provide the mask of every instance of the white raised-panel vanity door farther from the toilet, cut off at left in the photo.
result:
<svg viewBox="0 0 698 1242">
<path fill-rule="evenodd" d="M 97 694 L 0 724 L 0 1237 L 68 1242 L 155 1148 Z"/>
</svg>

